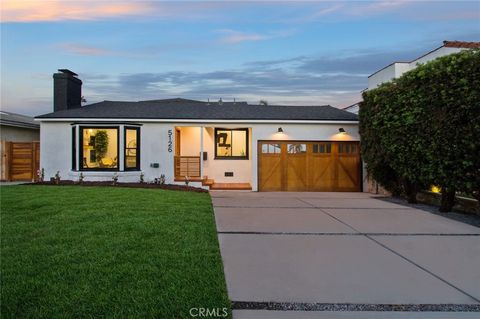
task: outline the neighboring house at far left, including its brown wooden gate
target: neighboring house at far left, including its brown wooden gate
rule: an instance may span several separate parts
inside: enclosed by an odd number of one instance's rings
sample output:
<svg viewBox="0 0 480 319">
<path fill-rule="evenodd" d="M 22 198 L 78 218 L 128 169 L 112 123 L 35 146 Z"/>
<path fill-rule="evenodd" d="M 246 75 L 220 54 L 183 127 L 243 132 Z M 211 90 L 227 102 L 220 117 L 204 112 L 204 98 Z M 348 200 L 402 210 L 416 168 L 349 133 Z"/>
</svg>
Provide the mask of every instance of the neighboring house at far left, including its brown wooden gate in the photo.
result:
<svg viewBox="0 0 480 319">
<path fill-rule="evenodd" d="M 33 117 L 0 111 L 0 180 L 35 178 L 39 140 L 40 125 Z"/>
</svg>

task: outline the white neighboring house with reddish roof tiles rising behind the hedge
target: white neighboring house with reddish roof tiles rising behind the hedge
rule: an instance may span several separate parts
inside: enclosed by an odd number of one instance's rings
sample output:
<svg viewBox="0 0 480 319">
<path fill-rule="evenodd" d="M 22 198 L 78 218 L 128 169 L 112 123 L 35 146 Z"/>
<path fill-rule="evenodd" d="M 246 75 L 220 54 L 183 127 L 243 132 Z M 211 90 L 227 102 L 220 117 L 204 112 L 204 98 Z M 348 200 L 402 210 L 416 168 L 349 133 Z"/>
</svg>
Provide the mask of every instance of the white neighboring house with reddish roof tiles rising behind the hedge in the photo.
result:
<svg viewBox="0 0 480 319">
<path fill-rule="evenodd" d="M 403 73 L 415 69 L 418 64 L 427 63 L 441 56 L 457 53 L 462 50 L 478 48 L 480 48 L 480 42 L 443 41 L 442 46 L 410 62 L 393 62 L 371 74 L 368 77 L 368 90 L 374 89 L 384 82 L 399 78 Z"/>
</svg>

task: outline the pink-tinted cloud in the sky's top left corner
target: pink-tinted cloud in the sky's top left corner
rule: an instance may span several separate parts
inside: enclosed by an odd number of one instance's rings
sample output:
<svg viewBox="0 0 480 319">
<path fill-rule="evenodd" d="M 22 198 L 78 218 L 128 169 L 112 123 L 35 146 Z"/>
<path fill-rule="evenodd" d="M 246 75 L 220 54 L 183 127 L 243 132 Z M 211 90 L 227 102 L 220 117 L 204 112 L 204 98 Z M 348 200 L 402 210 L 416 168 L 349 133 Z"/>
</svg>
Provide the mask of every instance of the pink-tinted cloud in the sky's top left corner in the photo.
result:
<svg viewBox="0 0 480 319">
<path fill-rule="evenodd" d="M 136 1 L 3 0 L 2 22 L 95 20 L 145 14 L 150 5 Z"/>
</svg>

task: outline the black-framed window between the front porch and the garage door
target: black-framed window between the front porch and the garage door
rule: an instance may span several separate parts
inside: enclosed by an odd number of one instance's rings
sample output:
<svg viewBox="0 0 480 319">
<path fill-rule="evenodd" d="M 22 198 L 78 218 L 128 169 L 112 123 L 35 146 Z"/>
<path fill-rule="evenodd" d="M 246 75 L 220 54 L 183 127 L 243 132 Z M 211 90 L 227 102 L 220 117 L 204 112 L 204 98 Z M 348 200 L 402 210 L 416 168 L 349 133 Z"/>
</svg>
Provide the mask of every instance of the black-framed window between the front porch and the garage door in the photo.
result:
<svg viewBox="0 0 480 319">
<path fill-rule="evenodd" d="M 215 159 L 248 159 L 248 129 L 215 129 Z"/>
</svg>

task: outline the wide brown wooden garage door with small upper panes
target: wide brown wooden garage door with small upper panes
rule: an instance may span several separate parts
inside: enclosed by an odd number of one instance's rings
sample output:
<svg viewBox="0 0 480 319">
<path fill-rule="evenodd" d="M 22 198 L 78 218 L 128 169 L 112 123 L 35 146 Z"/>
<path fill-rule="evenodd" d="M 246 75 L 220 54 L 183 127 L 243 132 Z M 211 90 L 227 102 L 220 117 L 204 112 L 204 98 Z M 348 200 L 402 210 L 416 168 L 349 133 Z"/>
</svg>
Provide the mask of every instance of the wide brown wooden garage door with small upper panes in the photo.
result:
<svg viewBox="0 0 480 319">
<path fill-rule="evenodd" d="M 258 142 L 259 191 L 361 191 L 358 142 Z"/>
</svg>

